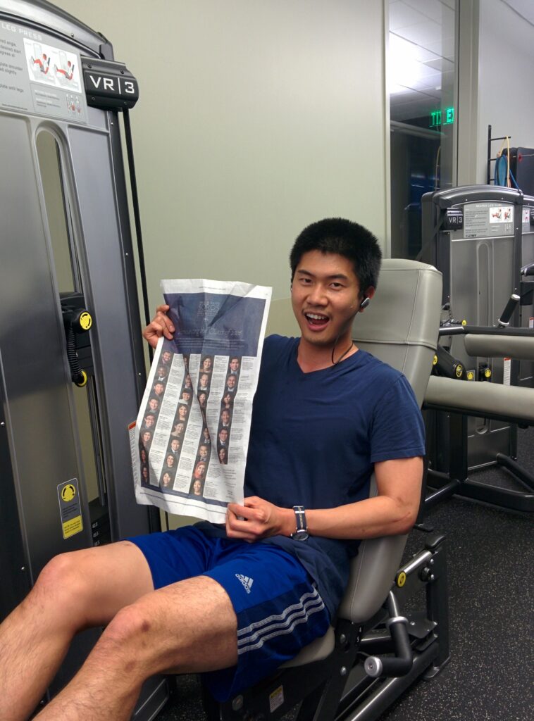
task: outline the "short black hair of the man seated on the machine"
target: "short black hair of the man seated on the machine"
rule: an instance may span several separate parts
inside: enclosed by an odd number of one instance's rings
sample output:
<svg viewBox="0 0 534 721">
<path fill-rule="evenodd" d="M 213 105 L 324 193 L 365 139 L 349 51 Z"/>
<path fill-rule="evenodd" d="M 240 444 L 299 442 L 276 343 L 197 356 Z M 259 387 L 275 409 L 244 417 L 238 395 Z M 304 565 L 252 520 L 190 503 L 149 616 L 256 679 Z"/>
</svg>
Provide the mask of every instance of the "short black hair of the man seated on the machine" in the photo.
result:
<svg viewBox="0 0 534 721">
<path fill-rule="evenodd" d="M 344 218 L 324 218 L 307 226 L 289 255 L 292 281 L 300 259 L 310 250 L 336 253 L 350 260 L 362 293 L 370 286 L 377 287 L 382 251 L 377 238 L 359 223 Z"/>
</svg>

